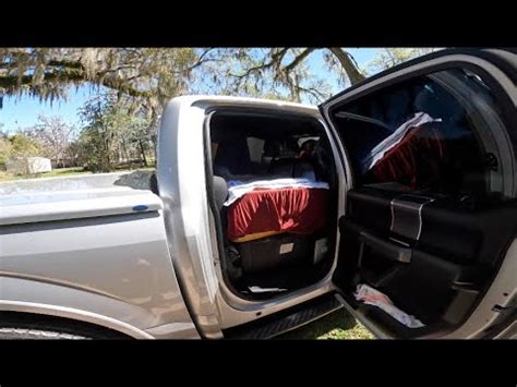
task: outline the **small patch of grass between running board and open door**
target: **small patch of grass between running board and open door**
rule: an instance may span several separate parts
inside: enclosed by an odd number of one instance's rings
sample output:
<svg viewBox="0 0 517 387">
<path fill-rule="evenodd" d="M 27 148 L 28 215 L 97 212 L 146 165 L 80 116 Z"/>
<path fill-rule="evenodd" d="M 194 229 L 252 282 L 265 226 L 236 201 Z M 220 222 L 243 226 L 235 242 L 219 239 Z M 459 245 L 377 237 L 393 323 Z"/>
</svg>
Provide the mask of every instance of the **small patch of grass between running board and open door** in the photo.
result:
<svg viewBox="0 0 517 387">
<path fill-rule="evenodd" d="M 372 338 L 373 336 L 342 309 L 277 337 L 280 340 L 364 340 Z"/>
</svg>

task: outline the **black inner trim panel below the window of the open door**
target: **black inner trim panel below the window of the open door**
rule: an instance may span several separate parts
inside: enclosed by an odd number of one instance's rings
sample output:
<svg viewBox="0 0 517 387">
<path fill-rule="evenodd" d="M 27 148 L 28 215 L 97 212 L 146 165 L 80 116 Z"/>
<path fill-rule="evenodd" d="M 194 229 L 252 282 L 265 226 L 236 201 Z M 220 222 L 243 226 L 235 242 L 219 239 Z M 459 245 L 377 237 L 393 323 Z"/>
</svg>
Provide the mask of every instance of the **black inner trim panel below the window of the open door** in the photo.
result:
<svg viewBox="0 0 517 387">
<path fill-rule="evenodd" d="M 422 233 L 412 241 L 390 230 L 393 198 L 349 192 L 336 282 L 350 291 L 359 281 L 369 283 L 426 325 L 460 322 L 507 249 L 517 208 L 457 209 L 436 199 L 423 208 Z"/>
</svg>

